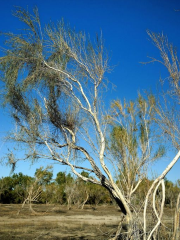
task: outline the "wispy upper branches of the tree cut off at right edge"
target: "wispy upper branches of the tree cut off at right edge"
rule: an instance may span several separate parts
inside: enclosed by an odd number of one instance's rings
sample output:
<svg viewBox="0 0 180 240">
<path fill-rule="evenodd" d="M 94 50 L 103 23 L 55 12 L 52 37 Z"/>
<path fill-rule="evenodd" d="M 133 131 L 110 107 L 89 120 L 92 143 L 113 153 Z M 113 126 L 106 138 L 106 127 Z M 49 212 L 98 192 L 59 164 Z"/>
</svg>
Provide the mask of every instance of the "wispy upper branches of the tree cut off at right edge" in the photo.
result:
<svg viewBox="0 0 180 240">
<path fill-rule="evenodd" d="M 156 34 L 148 31 L 153 44 L 160 52 L 161 60 L 152 58 L 152 62 L 159 62 L 166 67 L 169 76 L 161 80 L 162 91 L 156 98 L 154 120 L 162 129 L 163 134 L 179 150 L 180 146 L 180 125 L 179 125 L 179 103 L 180 103 L 180 75 L 179 59 L 177 49 L 168 42 L 163 34 Z"/>
</svg>

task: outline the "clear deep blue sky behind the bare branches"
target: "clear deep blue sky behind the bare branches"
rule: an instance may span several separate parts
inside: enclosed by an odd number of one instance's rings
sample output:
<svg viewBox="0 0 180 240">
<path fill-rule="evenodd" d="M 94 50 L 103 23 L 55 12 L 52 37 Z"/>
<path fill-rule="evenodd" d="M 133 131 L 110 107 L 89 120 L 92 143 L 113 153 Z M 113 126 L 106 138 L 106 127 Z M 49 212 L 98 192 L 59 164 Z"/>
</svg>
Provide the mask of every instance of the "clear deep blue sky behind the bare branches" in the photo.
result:
<svg viewBox="0 0 180 240">
<path fill-rule="evenodd" d="M 91 38 L 102 31 L 105 47 L 108 49 L 110 64 L 115 66 L 108 75 L 109 80 L 117 88 L 110 90 L 108 99 L 135 99 L 137 92 L 151 89 L 155 92 L 156 84 L 168 73 L 158 63 L 142 65 L 148 56 L 159 57 L 157 49 L 152 45 L 146 31 L 164 33 L 170 42 L 180 49 L 180 1 L 178 0 L 7 0 L 0 1 L 0 31 L 14 32 L 22 29 L 22 23 L 12 16 L 14 6 L 32 10 L 39 9 L 42 25 L 57 22 L 64 18 L 65 22 L 77 31 L 89 33 Z M 0 46 L 2 46 L 2 38 Z M 1 53 L 0 53 L 1 55 Z M 2 139 L 6 131 L 12 129 L 12 121 L 8 113 L 0 109 L 0 157 L 7 147 Z M 171 155 L 173 157 L 173 154 Z M 155 171 L 160 173 L 170 159 L 166 158 L 156 164 Z M 42 162 L 40 163 L 43 164 Z M 17 172 L 33 175 L 39 165 L 18 165 Z M 55 171 L 61 170 L 57 165 Z M 180 178 L 180 163 L 168 175 L 172 181 Z M 10 169 L 0 166 L 0 177 L 7 176 Z"/>
</svg>

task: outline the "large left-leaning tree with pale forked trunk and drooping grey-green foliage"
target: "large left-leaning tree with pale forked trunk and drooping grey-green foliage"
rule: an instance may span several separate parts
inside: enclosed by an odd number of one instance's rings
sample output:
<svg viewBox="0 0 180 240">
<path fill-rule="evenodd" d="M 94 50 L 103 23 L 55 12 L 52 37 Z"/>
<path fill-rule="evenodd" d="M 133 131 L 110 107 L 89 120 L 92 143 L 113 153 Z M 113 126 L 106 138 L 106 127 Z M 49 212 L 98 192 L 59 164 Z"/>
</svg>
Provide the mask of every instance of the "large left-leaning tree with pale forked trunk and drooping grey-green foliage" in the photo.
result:
<svg viewBox="0 0 180 240">
<path fill-rule="evenodd" d="M 5 103 L 18 128 L 10 139 L 27 145 L 27 159 L 52 159 L 84 181 L 105 187 L 131 221 L 130 207 L 105 160 L 100 99 L 109 67 L 102 39 L 97 37 L 92 44 L 62 21 L 43 30 L 37 9 L 31 15 L 18 8 L 14 15 L 26 30 L 5 34 L 8 50 L 0 58 Z"/>
</svg>

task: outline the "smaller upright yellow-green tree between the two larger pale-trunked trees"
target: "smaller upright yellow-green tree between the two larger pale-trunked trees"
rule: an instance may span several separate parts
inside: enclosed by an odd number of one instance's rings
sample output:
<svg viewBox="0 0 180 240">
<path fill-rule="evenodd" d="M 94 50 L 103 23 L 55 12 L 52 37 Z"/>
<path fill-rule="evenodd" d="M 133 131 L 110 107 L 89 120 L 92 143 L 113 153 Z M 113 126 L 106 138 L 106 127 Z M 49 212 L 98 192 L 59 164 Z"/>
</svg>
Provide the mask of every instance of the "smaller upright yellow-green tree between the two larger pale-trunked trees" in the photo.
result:
<svg viewBox="0 0 180 240">
<path fill-rule="evenodd" d="M 134 102 L 116 100 L 111 108 L 109 150 L 114 165 L 118 166 L 118 186 L 131 203 L 132 195 L 146 178 L 149 165 L 164 156 L 165 148 L 157 141 L 151 116 L 153 108 L 140 94 Z"/>
</svg>

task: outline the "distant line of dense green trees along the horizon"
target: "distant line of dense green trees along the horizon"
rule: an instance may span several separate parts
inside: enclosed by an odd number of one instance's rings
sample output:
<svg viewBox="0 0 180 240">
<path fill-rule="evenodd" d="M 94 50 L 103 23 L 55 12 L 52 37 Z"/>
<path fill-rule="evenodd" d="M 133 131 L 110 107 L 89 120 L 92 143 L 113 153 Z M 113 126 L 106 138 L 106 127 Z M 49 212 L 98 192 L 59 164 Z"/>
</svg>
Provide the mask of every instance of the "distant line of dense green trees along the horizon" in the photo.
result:
<svg viewBox="0 0 180 240">
<path fill-rule="evenodd" d="M 89 177 L 85 171 L 81 174 Z M 119 184 L 118 180 L 117 184 Z M 135 205 L 142 204 L 151 184 L 152 181 L 144 178 L 132 199 Z M 167 207 L 174 208 L 180 191 L 180 180 L 173 183 L 165 179 L 165 185 L 165 204 Z M 66 172 L 58 172 L 56 178 L 53 179 L 53 172 L 49 167 L 37 169 L 34 177 L 20 172 L 0 178 L 1 204 L 22 204 L 30 194 L 33 203 L 64 204 L 68 208 L 71 208 L 72 205 L 83 208 L 85 204 L 97 206 L 98 204 L 114 203 L 109 192 L 101 186 L 84 182 L 81 178 L 74 178 Z M 157 192 L 157 195 L 160 194 L 161 191 Z"/>
</svg>

